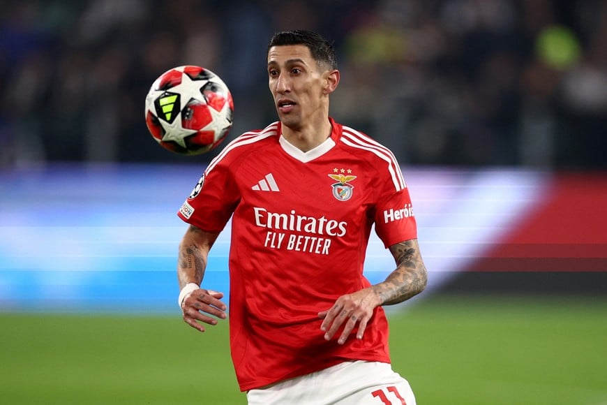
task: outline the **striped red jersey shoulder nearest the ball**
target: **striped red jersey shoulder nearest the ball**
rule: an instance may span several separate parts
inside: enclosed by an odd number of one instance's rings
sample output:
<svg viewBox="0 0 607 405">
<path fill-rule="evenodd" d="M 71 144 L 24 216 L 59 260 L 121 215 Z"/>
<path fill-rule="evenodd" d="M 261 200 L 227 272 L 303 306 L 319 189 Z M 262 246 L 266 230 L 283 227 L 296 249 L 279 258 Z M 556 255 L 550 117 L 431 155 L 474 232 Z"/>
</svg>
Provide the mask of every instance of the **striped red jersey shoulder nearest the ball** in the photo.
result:
<svg viewBox="0 0 607 405">
<path fill-rule="evenodd" d="M 267 142 L 276 142 L 278 139 L 278 121 L 269 124 L 263 129 L 247 131 L 230 143 L 225 145 L 221 152 L 207 166 L 207 172 L 213 170 L 217 165 L 231 165 L 239 161 L 243 156 L 254 152 Z"/>
</svg>

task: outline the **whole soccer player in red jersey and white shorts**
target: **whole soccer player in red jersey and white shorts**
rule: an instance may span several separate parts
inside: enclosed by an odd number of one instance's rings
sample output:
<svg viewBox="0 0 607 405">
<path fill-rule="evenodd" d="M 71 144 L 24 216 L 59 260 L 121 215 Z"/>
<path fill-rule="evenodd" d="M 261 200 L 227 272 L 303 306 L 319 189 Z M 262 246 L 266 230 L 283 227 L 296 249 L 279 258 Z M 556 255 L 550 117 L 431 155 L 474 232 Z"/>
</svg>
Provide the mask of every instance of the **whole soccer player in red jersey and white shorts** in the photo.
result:
<svg viewBox="0 0 607 405">
<path fill-rule="evenodd" d="M 230 348 L 249 404 L 415 404 L 391 369 L 383 305 L 426 286 L 407 185 L 389 149 L 329 117 L 334 47 L 311 31 L 275 34 L 269 88 L 279 121 L 230 142 L 179 209 L 183 319 L 204 332 L 227 318 L 200 288 L 232 217 Z M 396 270 L 370 285 L 372 226 Z"/>
</svg>

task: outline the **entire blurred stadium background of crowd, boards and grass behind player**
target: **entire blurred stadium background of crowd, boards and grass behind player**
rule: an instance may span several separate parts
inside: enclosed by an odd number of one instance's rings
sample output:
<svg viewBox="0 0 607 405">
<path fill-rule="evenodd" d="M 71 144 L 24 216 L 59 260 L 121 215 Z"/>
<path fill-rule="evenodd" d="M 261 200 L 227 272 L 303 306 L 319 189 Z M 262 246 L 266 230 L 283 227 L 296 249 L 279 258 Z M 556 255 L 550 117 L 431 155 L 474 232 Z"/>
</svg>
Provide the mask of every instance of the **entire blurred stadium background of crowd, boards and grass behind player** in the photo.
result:
<svg viewBox="0 0 607 405">
<path fill-rule="evenodd" d="M 0 1 L 0 397 L 242 404 L 227 327 L 175 304 L 175 212 L 213 153 L 170 154 L 143 103 L 199 64 L 230 138 L 276 119 L 274 31 L 333 38 L 338 121 L 391 147 L 428 290 L 391 308 L 420 404 L 607 404 L 607 3 Z M 227 292 L 223 234 L 205 285 Z M 367 275 L 392 267 L 377 240 Z"/>
</svg>

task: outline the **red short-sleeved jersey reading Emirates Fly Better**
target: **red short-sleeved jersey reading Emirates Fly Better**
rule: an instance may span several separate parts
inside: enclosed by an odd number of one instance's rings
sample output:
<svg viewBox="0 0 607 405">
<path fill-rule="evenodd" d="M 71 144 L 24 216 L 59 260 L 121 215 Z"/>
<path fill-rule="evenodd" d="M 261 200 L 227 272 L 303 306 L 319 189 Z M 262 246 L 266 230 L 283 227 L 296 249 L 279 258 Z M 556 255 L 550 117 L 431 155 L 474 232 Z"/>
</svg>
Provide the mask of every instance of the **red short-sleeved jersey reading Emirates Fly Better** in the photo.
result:
<svg viewBox="0 0 607 405">
<path fill-rule="evenodd" d="M 318 312 L 370 286 L 363 265 L 373 224 L 386 247 L 417 237 L 394 155 L 331 124 L 331 136 L 308 152 L 280 135 L 280 122 L 244 133 L 179 209 L 183 221 L 210 232 L 232 216 L 230 347 L 243 391 L 345 360 L 390 361 L 381 307 L 361 340 L 339 345 L 320 330 Z"/>
</svg>

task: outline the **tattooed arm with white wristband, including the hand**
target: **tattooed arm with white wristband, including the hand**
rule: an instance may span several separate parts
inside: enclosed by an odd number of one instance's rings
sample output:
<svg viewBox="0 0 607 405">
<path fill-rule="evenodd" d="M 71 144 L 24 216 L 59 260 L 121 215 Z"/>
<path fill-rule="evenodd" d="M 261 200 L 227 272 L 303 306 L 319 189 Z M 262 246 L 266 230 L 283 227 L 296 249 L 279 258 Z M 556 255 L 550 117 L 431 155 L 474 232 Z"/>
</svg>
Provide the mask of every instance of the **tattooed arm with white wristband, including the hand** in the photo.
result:
<svg viewBox="0 0 607 405">
<path fill-rule="evenodd" d="M 180 294 L 179 305 L 183 311 L 183 321 L 200 332 L 204 332 L 201 322 L 216 325 L 216 318 L 211 316 L 226 317 L 225 304 L 220 301 L 223 293 L 197 288 L 202 283 L 209 251 L 218 235 L 190 225 L 179 244 L 177 279 L 179 289 L 185 293 Z"/>
</svg>

